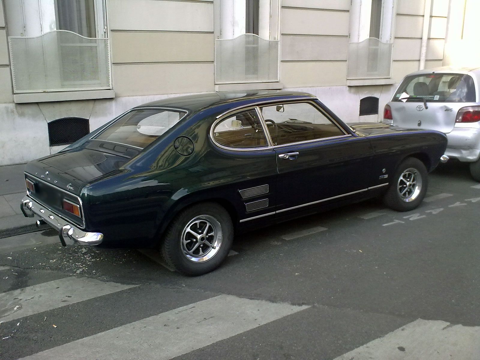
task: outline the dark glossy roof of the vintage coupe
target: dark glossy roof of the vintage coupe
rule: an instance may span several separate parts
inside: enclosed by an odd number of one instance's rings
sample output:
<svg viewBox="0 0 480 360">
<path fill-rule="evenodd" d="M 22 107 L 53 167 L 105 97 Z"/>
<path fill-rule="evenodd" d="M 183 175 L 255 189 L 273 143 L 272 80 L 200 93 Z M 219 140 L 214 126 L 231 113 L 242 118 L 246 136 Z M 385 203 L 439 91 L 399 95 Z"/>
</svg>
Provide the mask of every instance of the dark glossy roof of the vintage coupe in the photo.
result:
<svg viewBox="0 0 480 360">
<path fill-rule="evenodd" d="M 153 101 L 147 104 L 137 106 L 143 107 L 160 107 L 160 108 L 180 108 L 188 112 L 195 112 L 204 108 L 212 108 L 219 105 L 231 105 L 230 108 L 236 108 L 238 103 L 250 100 L 252 103 L 268 101 L 270 98 L 278 97 L 295 97 L 295 98 L 315 98 L 312 94 L 282 91 L 282 90 L 264 90 L 264 91 L 245 91 L 245 92 L 211 92 L 201 93 L 187 96 L 168 97 L 166 99 Z M 229 107 L 227 107 L 228 109 Z"/>
</svg>

